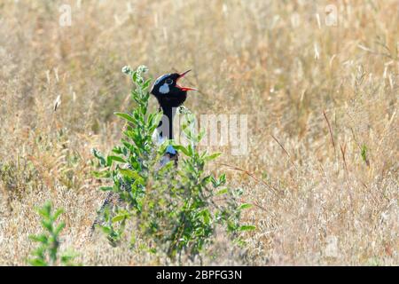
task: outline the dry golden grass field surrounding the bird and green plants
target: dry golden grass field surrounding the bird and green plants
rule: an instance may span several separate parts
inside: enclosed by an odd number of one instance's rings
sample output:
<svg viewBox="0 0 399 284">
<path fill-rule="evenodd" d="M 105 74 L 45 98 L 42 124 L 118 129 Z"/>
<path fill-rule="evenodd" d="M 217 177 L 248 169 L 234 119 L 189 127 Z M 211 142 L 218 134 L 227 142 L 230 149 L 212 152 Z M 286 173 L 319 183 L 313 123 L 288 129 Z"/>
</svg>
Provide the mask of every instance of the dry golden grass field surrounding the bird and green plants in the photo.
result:
<svg viewBox="0 0 399 284">
<path fill-rule="evenodd" d="M 210 170 L 246 190 L 257 230 L 206 264 L 399 264 L 396 0 L 72 1 L 63 28 L 64 3 L 0 4 L 0 264 L 25 264 L 48 199 L 83 264 L 167 264 L 87 238 L 104 198 L 90 148 L 119 138 L 127 64 L 192 67 L 194 113 L 249 114 L 250 153 L 220 149 L 247 172 Z"/>
</svg>

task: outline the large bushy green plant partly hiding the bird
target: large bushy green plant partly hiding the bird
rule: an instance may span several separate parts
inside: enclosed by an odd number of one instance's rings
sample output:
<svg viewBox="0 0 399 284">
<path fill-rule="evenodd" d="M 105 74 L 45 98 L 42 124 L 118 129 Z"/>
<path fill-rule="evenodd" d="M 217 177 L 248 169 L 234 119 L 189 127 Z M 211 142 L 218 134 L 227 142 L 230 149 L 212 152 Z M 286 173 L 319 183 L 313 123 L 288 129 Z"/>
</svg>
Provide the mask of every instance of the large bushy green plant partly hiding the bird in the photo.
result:
<svg viewBox="0 0 399 284">
<path fill-rule="evenodd" d="M 152 136 L 161 115 L 147 114 L 151 80 L 143 78 L 145 70 L 145 67 L 122 70 L 135 84 L 131 97 L 137 107 L 131 114 L 116 113 L 127 122 L 121 146 L 113 147 L 113 154 L 107 157 L 93 150 L 102 168 L 95 176 L 105 178 L 108 183 L 100 189 L 112 191 L 126 204 L 104 210 L 106 224 L 100 225 L 102 230 L 114 245 L 125 233 L 127 222 L 131 222 L 135 229 L 130 240 L 144 240 L 148 251 L 171 258 L 182 252 L 192 257 L 199 255 L 214 240 L 219 225 L 233 240 L 242 242 L 239 232 L 254 229 L 239 224 L 241 211 L 251 205 L 240 204 L 242 190 L 227 186 L 224 174 L 220 177 L 207 174 L 207 162 L 219 154 L 199 152 L 195 147 L 204 133 L 196 132 L 194 115 L 181 108 L 188 146 L 173 141 L 154 145 Z M 168 162 L 160 167 L 160 158 L 169 145 L 180 153 L 178 166 Z"/>
</svg>

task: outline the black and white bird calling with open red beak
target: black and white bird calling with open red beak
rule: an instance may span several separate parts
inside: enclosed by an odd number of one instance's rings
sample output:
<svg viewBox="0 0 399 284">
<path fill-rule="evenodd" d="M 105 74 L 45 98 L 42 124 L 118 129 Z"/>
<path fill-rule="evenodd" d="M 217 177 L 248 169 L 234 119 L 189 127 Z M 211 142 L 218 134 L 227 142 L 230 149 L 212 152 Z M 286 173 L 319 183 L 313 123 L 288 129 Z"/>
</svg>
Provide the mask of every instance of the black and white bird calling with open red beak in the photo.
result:
<svg viewBox="0 0 399 284">
<path fill-rule="evenodd" d="M 166 139 L 173 139 L 173 120 L 176 115 L 177 107 L 182 106 L 187 99 L 187 91 L 196 91 L 194 88 L 182 87 L 178 81 L 191 70 L 183 73 L 170 73 L 161 75 L 153 84 L 151 93 L 158 100 L 160 110 L 164 117 L 160 122 L 157 131 L 154 133 L 154 139 L 158 144 Z M 173 146 L 168 146 L 164 159 L 161 164 L 177 159 L 177 153 Z"/>
</svg>

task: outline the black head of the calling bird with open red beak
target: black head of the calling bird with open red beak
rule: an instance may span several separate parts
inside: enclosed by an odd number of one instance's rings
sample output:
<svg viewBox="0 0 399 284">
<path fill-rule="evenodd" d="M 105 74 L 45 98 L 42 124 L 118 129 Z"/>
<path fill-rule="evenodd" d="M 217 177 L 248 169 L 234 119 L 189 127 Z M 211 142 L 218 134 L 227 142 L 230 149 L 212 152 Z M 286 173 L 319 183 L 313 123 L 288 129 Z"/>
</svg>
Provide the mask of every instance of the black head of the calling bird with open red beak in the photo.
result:
<svg viewBox="0 0 399 284">
<path fill-rule="evenodd" d="M 161 75 L 155 80 L 151 93 L 158 99 L 162 108 L 181 106 L 185 99 L 187 99 L 187 91 L 196 91 L 196 89 L 182 87 L 178 84 L 178 81 L 190 71 L 187 70 L 180 74 L 171 73 Z"/>
</svg>

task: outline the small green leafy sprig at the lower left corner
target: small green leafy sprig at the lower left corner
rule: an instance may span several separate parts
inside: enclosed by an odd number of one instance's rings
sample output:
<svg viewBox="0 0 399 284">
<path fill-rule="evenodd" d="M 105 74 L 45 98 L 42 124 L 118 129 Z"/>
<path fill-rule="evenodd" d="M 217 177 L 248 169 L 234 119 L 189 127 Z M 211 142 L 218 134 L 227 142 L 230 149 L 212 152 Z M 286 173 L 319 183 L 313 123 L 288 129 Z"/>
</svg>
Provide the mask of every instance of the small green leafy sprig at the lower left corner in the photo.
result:
<svg viewBox="0 0 399 284">
<path fill-rule="evenodd" d="M 59 222 L 57 225 L 56 222 L 63 210 L 57 209 L 52 213 L 51 202 L 46 202 L 37 212 L 42 217 L 44 232 L 29 236 L 32 241 L 39 243 L 39 247 L 32 253 L 33 257 L 27 259 L 27 263 L 34 266 L 74 265 L 74 253 L 59 253 L 59 233 L 64 229 L 65 223 Z"/>
</svg>

